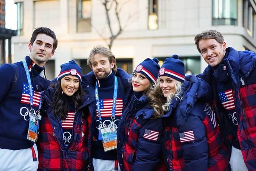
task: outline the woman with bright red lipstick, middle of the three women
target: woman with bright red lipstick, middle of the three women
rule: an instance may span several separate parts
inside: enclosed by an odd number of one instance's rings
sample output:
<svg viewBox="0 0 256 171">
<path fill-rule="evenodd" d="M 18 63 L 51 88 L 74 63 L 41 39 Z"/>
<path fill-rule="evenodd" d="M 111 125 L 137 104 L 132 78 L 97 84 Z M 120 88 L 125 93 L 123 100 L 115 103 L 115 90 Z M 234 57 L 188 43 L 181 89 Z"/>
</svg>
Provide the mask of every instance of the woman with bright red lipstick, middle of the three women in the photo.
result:
<svg viewBox="0 0 256 171">
<path fill-rule="evenodd" d="M 163 131 L 161 113 L 148 100 L 159 71 L 157 58 L 147 58 L 132 73 L 129 104 L 118 124 L 118 162 L 121 171 L 164 171 L 160 140 Z"/>
</svg>

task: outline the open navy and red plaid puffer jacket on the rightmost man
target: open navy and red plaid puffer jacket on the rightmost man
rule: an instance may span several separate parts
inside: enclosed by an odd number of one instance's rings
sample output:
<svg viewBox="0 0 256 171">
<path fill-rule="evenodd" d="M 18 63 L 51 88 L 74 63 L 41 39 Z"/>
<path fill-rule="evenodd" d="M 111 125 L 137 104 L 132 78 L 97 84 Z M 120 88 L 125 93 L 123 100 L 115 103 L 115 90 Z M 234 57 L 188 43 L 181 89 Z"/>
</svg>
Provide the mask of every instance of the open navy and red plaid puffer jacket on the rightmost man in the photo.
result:
<svg viewBox="0 0 256 171">
<path fill-rule="evenodd" d="M 225 85 L 230 86 L 235 106 L 235 113 L 232 114 L 237 120 L 235 124 L 238 126 L 237 137 L 240 149 L 247 169 L 256 171 L 256 54 L 252 51 L 236 51 L 232 47 L 228 47 L 226 53 L 216 70 L 208 66 L 199 77 L 206 80 L 214 89 L 216 86 L 218 89 L 222 88 L 223 92 L 227 91 Z M 230 77 L 226 81 L 222 78 L 224 70 Z M 216 93 L 214 99 L 219 110 L 217 118 L 225 140 L 230 141 L 231 144 L 233 137 L 230 130 L 233 128 L 231 125 L 233 123 L 228 118 L 229 111 L 222 106 Z"/>
</svg>

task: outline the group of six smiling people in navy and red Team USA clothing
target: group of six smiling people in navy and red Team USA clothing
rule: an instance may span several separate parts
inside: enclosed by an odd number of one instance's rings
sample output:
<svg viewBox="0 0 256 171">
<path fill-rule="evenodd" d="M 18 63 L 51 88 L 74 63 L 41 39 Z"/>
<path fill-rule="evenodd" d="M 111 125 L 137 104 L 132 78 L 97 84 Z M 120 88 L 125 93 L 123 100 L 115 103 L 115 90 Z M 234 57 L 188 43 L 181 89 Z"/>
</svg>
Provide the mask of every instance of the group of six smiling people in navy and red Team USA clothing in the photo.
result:
<svg viewBox="0 0 256 171">
<path fill-rule="evenodd" d="M 36 28 L 29 56 L 0 66 L 0 170 L 255 171 L 256 55 L 214 30 L 194 40 L 209 64 L 197 76 L 178 55 L 129 75 L 97 45 L 91 72 L 71 60 L 50 82 L 56 35 Z"/>
</svg>

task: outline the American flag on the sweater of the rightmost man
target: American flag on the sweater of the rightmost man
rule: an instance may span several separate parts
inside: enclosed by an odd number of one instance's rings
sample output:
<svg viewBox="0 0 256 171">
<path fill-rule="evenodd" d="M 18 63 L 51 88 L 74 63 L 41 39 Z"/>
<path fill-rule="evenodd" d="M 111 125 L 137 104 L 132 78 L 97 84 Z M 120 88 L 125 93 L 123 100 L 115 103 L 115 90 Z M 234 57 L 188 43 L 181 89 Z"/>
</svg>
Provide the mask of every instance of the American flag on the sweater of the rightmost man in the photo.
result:
<svg viewBox="0 0 256 171">
<path fill-rule="evenodd" d="M 232 89 L 226 90 L 224 92 L 219 92 L 219 99 L 221 100 L 221 104 L 226 110 L 232 110 L 235 108 Z"/>
</svg>

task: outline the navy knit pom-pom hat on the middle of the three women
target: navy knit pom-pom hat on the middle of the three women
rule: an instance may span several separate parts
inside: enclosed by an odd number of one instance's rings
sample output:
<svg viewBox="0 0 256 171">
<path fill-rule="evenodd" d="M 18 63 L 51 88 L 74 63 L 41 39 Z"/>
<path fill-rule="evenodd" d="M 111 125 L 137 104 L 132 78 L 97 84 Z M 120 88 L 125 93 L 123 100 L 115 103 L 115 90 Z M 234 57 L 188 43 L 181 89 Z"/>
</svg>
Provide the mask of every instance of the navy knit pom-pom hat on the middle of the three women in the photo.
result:
<svg viewBox="0 0 256 171">
<path fill-rule="evenodd" d="M 146 58 L 135 68 L 134 72 L 138 72 L 143 74 L 150 83 L 156 84 L 156 80 L 158 78 L 159 64 L 157 58 Z"/>
</svg>

